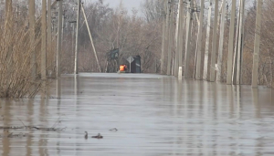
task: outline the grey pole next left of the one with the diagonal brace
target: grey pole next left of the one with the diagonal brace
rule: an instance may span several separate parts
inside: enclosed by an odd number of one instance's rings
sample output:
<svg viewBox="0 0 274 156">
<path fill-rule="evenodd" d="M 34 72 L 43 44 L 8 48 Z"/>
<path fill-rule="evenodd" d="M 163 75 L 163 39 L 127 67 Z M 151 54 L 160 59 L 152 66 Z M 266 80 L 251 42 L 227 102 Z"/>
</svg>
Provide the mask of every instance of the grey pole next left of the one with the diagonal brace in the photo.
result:
<svg viewBox="0 0 274 156">
<path fill-rule="evenodd" d="M 62 16 L 63 16 L 63 0 L 58 1 L 58 51 L 57 51 L 57 78 L 61 76 L 61 51 L 62 51 Z"/>
</svg>

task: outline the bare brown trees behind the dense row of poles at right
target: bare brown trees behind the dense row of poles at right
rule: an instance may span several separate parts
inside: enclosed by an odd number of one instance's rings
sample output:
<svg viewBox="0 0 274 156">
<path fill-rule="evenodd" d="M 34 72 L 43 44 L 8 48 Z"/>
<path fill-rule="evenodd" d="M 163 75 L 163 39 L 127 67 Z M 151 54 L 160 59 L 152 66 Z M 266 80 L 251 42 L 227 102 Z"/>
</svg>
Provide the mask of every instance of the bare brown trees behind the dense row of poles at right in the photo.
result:
<svg viewBox="0 0 274 156">
<path fill-rule="evenodd" d="M 149 2 L 153 0 L 148 0 Z M 157 1 L 154 1 L 157 2 Z M 223 1 L 219 1 L 219 8 L 222 5 Z M 237 12 L 236 12 L 236 23 L 235 23 L 235 37 L 234 43 L 236 43 L 236 34 L 237 34 L 237 21 L 238 21 L 238 2 L 237 0 Z M 160 2 L 159 2 L 160 3 Z M 205 1 L 205 15 L 204 15 L 204 26 L 203 26 L 203 41 L 202 41 L 202 67 L 201 67 L 201 74 L 203 75 L 203 68 L 204 68 L 204 58 L 205 58 L 205 39 L 206 39 L 206 26 L 207 26 L 207 10 L 208 10 L 208 2 Z M 225 16 L 225 33 L 224 33 L 224 46 L 223 46 L 223 63 L 222 63 L 222 72 L 221 72 L 221 81 L 227 81 L 227 54 L 228 54 L 228 39 L 229 39 L 229 26 L 230 26 L 230 16 L 231 16 L 231 1 L 225 1 L 226 5 L 226 16 Z M 274 60 L 274 42 L 273 42 L 273 24 L 274 24 L 274 17 L 272 16 L 274 13 L 274 1 L 266 0 L 264 1 L 264 5 L 262 8 L 262 24 L 261 24 L 261 42 L 260 42 L 260 51 L 259 51 L 259 67 L 258 67 L 258 84 L 265 85 L 268 87 L 273 87 L 273 60 Z M 177 7 L 178 1 L 174 1 L 174 21 L 176 21 L 177 16 Z M 199 9 L 200 9 L 200 1 L 195 0 L 194 9 L 193 9 L 193 26 L 191 28 L 191 39 L 190 39 L 190 70 L 191 76 L 195 76 L 195 50 L 196 50 L 196 42 L 197 42 L 197 35 L 198 35 L 198 26 L 199 26 Z M 187 4 L 184 3 L 184 20 L 186 21 L 186 14 L 190 9 L 188 8 Z M 214 11 L 214 10 L 213 10 Z M 243 37 L 243 53 L 242 53 L 242 65 L 241 65 L 241 84 L 251 84 L 252 78 L 252 68 L 253 68 L 253 53 L 254 53 L 254 39 L 255 39 L 255 27 L 256 27 L 256 12 L 257 12 L 257 1 L 246 0 L 245 1 L 245 15 L 244 15 L 244 37 Z M 220 14 L 221 11 L 218 11 L 218 27 L 217 27 L 217 47 L 219 44 L 220 38 Z M 185 22 L 184 22 L 185 25 Z M 172 36 L 175 36 L 175 26 L 176 22 L 174 22 L 174 31 L 172 32 Z M 212 48 L 212 36 L 213 36 L 213 26 L 214 26 L 214 12 L 211 16 L 211 28 L 210 28 L 210 38 L 209 38 L 209 56 L 208 56 L 208 66 L 211 64 L 211 48 Z M 186 32 L 186 26 L 184 26 L 184 32 Z M 166 44 L 166 43 L 165 43 Z M 174 44 L 174 43 L 173 43 Z M 185 44 L 185 33 L 183 38 L 183 47 Z M 185 47 L 184 47 L 185 48 Z M 184 49 L 183 48 L 183 49 Z M 235 48 L 235 45 L 234 45 Z M 172 65 L 171 68 L 174 72 L 174 60 L 175 60 L 175 44 L 172 45 Z M 166 49 L 165 49 L 166 51 Z M 185 51 L 183 50 L 183 54 Z M 216 63 L 217 63 L 217 56 L 218 51 L 216 51 Z M 166 59 L 166 52 L 164 54 L 164 66 L 163 66 L 163 73 L 166 73 L 167 67 L 167 59 Z M 184 60 L 184 59 L 183 59 Z M 184 63 L 183 63 L 184 68 Z M 216 67 L 210 67 L 216 68 Z M 209 76 L 209 68 L 208 68 Z M 202 76 L 203 78 L 203 76 Z M 209 79 L 209 78 L 208 78 Z"/>
</svg>

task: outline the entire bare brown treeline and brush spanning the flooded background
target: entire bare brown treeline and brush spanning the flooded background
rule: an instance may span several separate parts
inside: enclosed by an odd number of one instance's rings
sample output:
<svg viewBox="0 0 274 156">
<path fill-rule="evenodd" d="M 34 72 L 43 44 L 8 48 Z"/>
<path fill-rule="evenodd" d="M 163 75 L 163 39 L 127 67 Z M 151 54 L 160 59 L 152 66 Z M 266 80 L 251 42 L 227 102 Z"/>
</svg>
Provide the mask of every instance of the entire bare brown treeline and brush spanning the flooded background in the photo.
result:
<svg viewBox="0 0 274 156">
<path fill-rule="evenodd" d="M 29 15 L 28 1 L 8 1 L 7 5 L 1 5 L 0 10 L 0 97 L 26 97 L 33 96 L 40 88 L 40 52 L 41 52 L 41 24 L 40 24 L 40 1 L 36 1 L 36 30 L 35 41 L 29 40 Z M 65 2 L 65 1 L 64 1 Z M 175 1 L 176 2 L 176 1 Z M 250 2 L 246 2 L 250 3 Z M 5 7 L 7 6 L 7 7 Z M 227 5 L 227 16 L 224 36 L 224 55 L 222 64 L 222 81 L 227 78 L 227 51 L 228 34 L 230 24 L 230 5 Z M 259 54 L 259 84 L 271 86 L 273 82 L 273 24 L 274 2 L 264 1 L 262 25 L 261 25 L 261 48 Z M 176 14 L 178 3 L 174 3 L 174 32 L 175 36 Z M 73 73 L 74 49 L 75 49 L 75 24 L 77 5 L 74 1 L 64 3 L 64 29 L 62 38 L 61 69 L 62 73 Z M 100 61 L 102 72 L 116 72 L 120 64 L 126 64 L 126 58 L 130 56 L 142 57 L 142 72 L 160 73 L 161 71 L 161 51 L 163 36 L 163 21 L 166 13 L 163 8 L 163 1 L 144 0 L 140 10 L 128 11 L 123 5 L 111 8 L 103 0 L 92 1 L 84 4 L 88 23 L 93 37 L 94 45 Z M 187 9 L 184 5 L 184 17 Z M 195 1 L 195 8 L 199 8 L 198 1 Z M 254 36 L 256 3 L 246 7 L 244 20 L 244 48 L 242 64 L 242 83 L 250 84 L 253 64 Z M 58 5 L 54 6 L 52 12 L 52 51 L 47 52 L 47 74 L 51 71 L 54 75 L 56 71 L 56 43 L 57 43 L 57 24 L 58 24 Z M 198 15 L 194 13 L 194 21 L 191 31 L 190 44 L 190 68 L 195 68 L 195 48 L 198 30 Z M 206 16 L 206 13 L 205 13 Z M 206 19 L 206 17 L 205 17 Z M 213 16 L 212 16 L 212 22 Z M 236 19 L 237 21 L 237 19 Z M 235 28 L 237 25 L 235 25 Z M 203 28 L 202 58 L 205 54 L 206 20 Z M 219 28 L 218 28 L 219 30 Z M 185 32 L 185 26 L 184 26 Z M 212 33 L 212 31 L 211 31 Z M 211 35 L 212 36 L 212 35 Z M 219 36 L 218 36 L 219 37 Z M 183 45 L 184 45 L 183 38 Z M 211 40 L 211 38 L 210 38 Z M 211 42 L 210 42 L 211 43 Z M 211 45 L 211 44 L 210 44 Z M 183 46 L 184 47 L 184 46 Z M 47 47 L 48 48 L 48 47 Z M 120 57 L 118 60 L 109 60 L 108 52 L 111 49 L 119 48 Z M 183 48 L 184 49 L 184 48 Z M 172 63 L 175 58 L 175 45 L 172 50 Z M 211 46 L 209 47 L 211 50 Z M 33 51 L 36 53 L 36 81 L 32 79 L 31 64 Z M 210 57 L 210 56 L 209 56 Z M 167 53 L 164 53 L 164 72 L 166 72 Z M 183 59 L 184 60 L 184 59 Z M 202 65 L 204 65 L 202 59 Z M 210 61 L 210 59 L 209 59 Z M 209 62 L 210 64 L 210 62 Z M 203 68 L 203 67 L 202 67 Z M 81 14 L 79 30 L 79 71 L 80 72 L 99 72 L 94 53 L 90 44 L 90 36 Z M 193 73 L 191 73 L 193 75 Z"/>
</svg>

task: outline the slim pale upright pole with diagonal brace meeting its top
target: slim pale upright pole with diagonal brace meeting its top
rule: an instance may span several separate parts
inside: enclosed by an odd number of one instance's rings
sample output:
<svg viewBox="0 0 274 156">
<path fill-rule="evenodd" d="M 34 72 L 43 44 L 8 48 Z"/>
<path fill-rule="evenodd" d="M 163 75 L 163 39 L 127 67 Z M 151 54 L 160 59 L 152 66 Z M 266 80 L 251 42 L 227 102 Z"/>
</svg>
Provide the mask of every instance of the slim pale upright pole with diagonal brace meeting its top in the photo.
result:
<svg viewBox="0 0 274 156">
<path fill-rule="evenodd" d="M 76 39 L 75 39 L 75 60 L 74 74 L 78 74 L 78 54 L 79 54 L 79 16 L 81 9 L 81 0 L 78 0 L 77 23 L 76 23 Z"/>
</svg>

